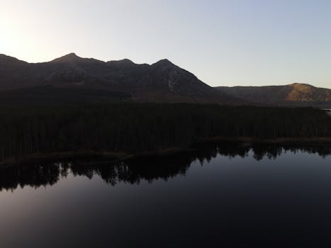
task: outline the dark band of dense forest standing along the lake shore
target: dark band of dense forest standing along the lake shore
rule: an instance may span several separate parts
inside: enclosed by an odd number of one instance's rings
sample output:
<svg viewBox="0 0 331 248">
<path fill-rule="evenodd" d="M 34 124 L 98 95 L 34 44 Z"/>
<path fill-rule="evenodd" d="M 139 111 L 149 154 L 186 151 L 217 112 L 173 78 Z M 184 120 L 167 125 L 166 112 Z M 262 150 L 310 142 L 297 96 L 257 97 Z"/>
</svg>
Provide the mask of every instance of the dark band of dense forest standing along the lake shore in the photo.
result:
<svg viewBox="0 0 331 248">
<path fill-rule="evenodd" d="M 331 137 L 315 108 L 114 103 L 0 109 L 0 159 L 51 152 L 140 153 L 209 137 Z"/>
</svg>

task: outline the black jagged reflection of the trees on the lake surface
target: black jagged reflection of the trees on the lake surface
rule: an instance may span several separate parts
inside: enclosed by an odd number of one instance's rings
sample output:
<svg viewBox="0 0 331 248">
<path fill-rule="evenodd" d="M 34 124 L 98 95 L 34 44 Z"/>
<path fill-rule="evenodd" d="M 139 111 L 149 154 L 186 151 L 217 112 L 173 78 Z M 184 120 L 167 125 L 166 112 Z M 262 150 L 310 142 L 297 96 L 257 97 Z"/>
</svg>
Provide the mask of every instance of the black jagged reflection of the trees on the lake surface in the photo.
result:
<svg viewBox="0 0 331 248">
<path fill-rule="evenodd" d="M 184 175 L 192 162 L 210 162 L 218 154 L 226 157 L 247 157 L 253 152 L 254 159 L 276 159 L 284 152 L 307 152 L 326 157 L 331 154 L 331 147 L 325 146 L 276 146 L 276 145 L 243 145 L 237 143 L 208 144 L 193 147 L 189 152 L 183 152 L 169 157 L 148 157 L 126 162 L 97 162 L 95 159 L 85 159 L 75 162 L 52 162 L 49 164 L 24 164 L 0 169 L 0 191 L 14 191 L 18 186 L 52 186 L 68 174 L 86 176 L 92 179 L 100 176 L 111 186 L 120 182 L 140 184 L 140 181 L 152 182 L 157 179 L 168 179 Z"/>
</svg>

